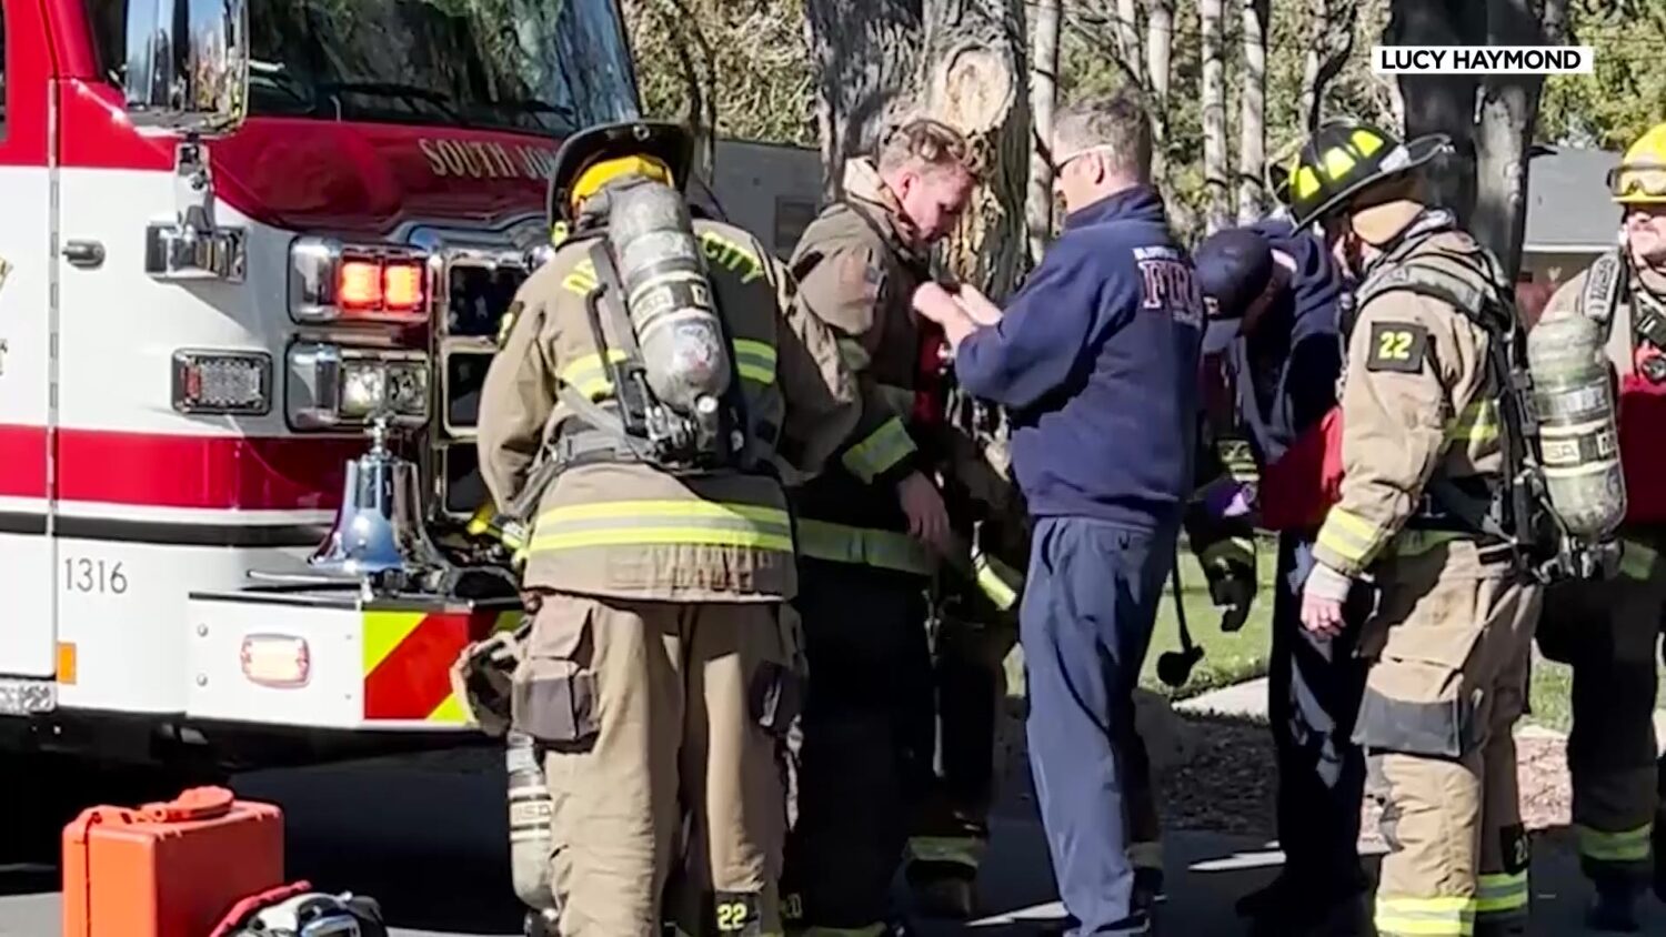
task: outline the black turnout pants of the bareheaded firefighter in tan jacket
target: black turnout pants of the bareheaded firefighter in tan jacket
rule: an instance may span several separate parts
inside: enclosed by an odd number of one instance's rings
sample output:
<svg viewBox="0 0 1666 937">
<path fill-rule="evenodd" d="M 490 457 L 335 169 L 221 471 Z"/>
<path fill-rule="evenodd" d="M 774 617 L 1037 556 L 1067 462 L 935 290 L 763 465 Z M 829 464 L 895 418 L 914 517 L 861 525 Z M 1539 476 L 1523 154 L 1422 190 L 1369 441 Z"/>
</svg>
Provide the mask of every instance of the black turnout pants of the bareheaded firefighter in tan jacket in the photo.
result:
<svg viewBox="0 0 1666 937">
<path fill-rule="evenodd" d="M 810 686 L 781 880 L 791 934 L 875 935 L 888 925 L 891 879 L 931 772 L 925 586 L 896 569 L 800 558 Z"/>
</svg>

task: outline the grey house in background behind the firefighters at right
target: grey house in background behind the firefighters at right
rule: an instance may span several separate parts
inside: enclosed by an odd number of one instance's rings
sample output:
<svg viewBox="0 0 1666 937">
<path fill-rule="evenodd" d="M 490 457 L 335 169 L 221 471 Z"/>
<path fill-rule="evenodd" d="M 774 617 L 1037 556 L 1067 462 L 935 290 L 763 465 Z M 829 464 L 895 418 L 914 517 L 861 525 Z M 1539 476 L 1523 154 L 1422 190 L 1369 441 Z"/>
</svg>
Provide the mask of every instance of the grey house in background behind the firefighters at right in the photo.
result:
<svg viewBox="0 0 1666 937">
<path fill-rule="evenodd" d="M 1608 195 L 1608 170 L 1619 153 L 1534 146 L 1528 160 L 1528 230 L 1521 280 L 1566 283 L 1614 245 L 1619 206 Z"/>
</svg>

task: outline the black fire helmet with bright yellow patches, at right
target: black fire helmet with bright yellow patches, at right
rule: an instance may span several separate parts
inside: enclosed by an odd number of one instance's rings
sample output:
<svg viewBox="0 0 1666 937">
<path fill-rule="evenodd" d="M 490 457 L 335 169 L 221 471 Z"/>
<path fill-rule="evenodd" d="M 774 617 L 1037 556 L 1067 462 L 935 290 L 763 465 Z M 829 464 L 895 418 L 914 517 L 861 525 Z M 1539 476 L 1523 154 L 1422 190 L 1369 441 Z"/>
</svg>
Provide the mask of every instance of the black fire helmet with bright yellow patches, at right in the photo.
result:
<svg viewBox="0 0 1666 937">
<path fill-rule="evenodd" d="M 1301 145 L 1289 175 L 1273 195 L 1289 206 L 1298 228 L 1343 208 L 1359 191 L 1401 176 L 1446 151 L 1443 133 L 1401 143 L 1393 133 L 1354 118 L 1331 118 Z"/>
</svg>

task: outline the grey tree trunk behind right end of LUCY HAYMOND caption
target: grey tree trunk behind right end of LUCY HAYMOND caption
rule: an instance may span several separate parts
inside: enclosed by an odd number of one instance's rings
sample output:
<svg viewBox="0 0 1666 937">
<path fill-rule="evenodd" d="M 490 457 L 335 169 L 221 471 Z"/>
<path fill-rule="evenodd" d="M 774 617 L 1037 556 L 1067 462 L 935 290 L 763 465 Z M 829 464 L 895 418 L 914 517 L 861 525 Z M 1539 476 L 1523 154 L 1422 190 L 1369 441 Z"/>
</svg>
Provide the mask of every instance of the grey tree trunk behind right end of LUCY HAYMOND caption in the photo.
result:
<svg viewBox="0 0 1666 937">
<path fill-rule="evenodd" d="M 1544 45 L 1561 28 L 1568 0 L 1488 0 L 1488 45 Z M 1536 5 L 1544 7 L 1541 22 Z M 1476 205 L 1469 230 L 1514 280 L 1526 231 L 1528 148 L 1543 75 L 1488 75 L 1476 133 Z"/>
</svg>

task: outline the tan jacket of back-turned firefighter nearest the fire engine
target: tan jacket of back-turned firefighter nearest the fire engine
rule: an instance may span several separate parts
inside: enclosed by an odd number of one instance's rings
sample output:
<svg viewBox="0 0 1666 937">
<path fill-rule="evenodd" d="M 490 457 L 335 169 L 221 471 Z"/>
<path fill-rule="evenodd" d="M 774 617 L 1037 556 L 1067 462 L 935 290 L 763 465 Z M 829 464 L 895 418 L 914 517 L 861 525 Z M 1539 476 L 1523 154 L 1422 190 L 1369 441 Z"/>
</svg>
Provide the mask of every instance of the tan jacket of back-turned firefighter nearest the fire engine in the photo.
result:
<svg viewBox="0 0 1666 937">
<path fill-rule="evenodd" d="M 791 278 L 750 233 L 695 221 L 716 308 L 735 348 L 758 456 L 815 474 L 860 416 L 856 388 L 828 330 L 793 305 Z M 590 246 L 575 236 L 521 285 L 515 321 L 486 373 L 480 466 L 505 506 L 533 458 L 573 413 L 566 384 L 613 396 L 586 298 L 600 290 Z M 615 301 L 611 293 L 601 303 Z M 610 350 L 621 348 L 603 315 Z M 568 421 L 583 428 L 578 419 Z M 768 474 L 671 476 L 641 463 L 561 473 L 531 518 L 525 584 L 565 592 L 671 602 L 783 601 L 796 596 L 793 528 L 781 483 Z"/>
</svg>

